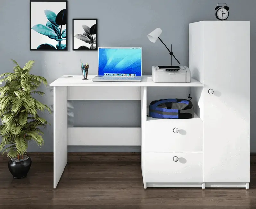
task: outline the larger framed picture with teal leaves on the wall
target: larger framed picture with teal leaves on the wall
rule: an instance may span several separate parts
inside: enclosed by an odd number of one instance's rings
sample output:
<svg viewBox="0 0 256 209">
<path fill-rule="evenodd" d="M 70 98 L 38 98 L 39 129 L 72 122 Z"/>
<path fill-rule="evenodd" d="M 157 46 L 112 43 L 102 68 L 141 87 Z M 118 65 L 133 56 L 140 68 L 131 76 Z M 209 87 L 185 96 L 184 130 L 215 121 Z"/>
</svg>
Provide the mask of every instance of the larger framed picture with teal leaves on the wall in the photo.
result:
<svg viewBox="0 0 256 209">
<path fill-rule="evenodd" d="M 68 50 L 67 1 L 30 1 L 30 50 Z"/>
</svg>

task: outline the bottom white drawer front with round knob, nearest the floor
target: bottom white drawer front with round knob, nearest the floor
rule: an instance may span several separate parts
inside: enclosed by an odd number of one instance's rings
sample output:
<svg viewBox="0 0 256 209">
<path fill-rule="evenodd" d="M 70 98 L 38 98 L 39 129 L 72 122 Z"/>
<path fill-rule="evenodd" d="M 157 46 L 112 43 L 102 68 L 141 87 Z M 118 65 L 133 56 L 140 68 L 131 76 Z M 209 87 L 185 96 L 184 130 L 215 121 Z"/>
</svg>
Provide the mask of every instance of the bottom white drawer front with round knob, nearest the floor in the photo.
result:
<svg viewBox="0 0 256 209">
<path fill-rule="evenodd" d="M 146 152 L 144 169 L 148 183 L 200 183 L 203 182 L 203 153 Z"/>
</svg>

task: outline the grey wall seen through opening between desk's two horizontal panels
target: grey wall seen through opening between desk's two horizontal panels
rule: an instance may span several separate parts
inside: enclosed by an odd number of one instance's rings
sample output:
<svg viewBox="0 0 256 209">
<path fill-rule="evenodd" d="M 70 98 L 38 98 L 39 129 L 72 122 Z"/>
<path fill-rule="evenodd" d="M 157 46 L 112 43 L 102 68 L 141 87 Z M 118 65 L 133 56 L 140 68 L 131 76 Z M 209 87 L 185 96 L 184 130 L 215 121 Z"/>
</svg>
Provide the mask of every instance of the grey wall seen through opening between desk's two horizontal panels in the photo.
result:
<svg viewBox="0 0 256 209">
<path fill-rule="evenodd" d="M 140 100 L 69 100 L 68 103 L 68 127 L 141 127 Z"/>
</svg>

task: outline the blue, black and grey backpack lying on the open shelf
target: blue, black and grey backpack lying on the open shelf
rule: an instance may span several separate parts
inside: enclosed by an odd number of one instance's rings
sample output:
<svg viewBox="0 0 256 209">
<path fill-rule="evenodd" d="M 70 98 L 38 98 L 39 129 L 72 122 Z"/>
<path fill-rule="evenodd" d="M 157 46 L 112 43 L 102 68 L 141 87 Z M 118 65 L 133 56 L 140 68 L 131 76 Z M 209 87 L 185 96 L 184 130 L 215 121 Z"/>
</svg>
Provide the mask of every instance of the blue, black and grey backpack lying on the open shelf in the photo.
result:
<svg viewBox="0 0 256 209">
<path fill-rule="evenodd" d="M 194 117 L 194 107 L 190 100 L 161 99 L 150 103 L 149 116 L 154 118 L 188 119 Z"/>
</svg>

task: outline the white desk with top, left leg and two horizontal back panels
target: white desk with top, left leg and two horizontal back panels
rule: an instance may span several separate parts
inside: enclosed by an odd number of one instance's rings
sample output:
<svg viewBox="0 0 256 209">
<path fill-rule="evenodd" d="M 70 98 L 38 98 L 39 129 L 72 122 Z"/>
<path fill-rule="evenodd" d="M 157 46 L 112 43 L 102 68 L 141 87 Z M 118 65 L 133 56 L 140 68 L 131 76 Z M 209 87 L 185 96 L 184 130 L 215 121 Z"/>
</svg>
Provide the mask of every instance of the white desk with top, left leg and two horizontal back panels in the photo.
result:
<svg viewBox="0 0 256 209">
<path fill-rule="evenodd" d="M 56 188 L 67 164 L 68 146 L 141 146 L 145 137 L 147 87 L 202 87 L 192 78 L 191 83 L 154 83 L 151 76 L 141 82 L 93 82 L 94 76 L 64 75 L 50 84 L 54 87 L 54 167 L 53 187 Z M 68 128 L 67 100 L 141 100 L 140 128 Z M 120 140 L 122 139 L 122 140 Z"/>
</svg>

